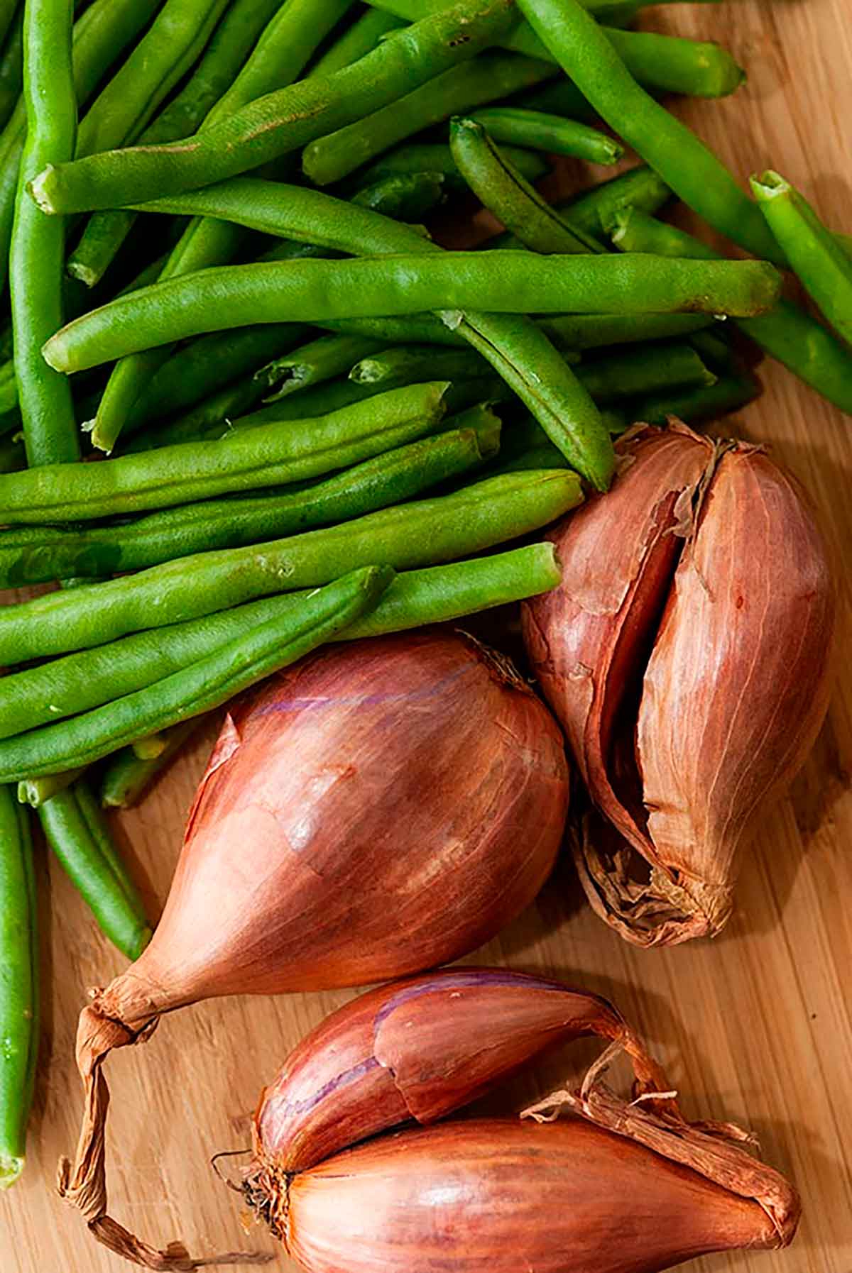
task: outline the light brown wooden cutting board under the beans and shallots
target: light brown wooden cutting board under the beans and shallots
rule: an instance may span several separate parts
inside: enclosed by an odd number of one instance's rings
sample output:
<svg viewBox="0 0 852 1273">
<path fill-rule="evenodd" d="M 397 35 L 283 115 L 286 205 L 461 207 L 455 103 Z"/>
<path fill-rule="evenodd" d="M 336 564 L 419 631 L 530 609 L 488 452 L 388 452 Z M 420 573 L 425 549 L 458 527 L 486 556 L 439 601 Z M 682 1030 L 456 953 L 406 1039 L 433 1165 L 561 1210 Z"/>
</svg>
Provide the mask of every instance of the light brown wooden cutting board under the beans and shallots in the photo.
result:
<svg viewBox="0 0 852 1273">
<path fill-rule="evenodd" d="M 726 102 L 690 103 L 683 113 L 740 177 L 776 165 L 832 224 L 852 230 L 848 5 L 670 5 L 651 10 L 646 24 L 730 46 L 749 70 L 748 87 Z M 588 176 L 579 164 L 569 173 L 578 185 Z M 852 550 L 852 420 L 777 365 L 764 367 L 764 377 L 765 396 L 742 412 L 736 429 L 772 443 L 802 479 L 843 563 Z M 848 654 L 848 624 L 844 636 Z M 168 891 L 214 733 L 206 731 L 139 810 L 116 819 L 152 914 Z M 563 864 L 536 904 L 476 955 L 478 962 L 543 971 L 614 999 L 666 1063 L 690 1116 L 748 1124 L 765 1158 L 797 1181 L 805 1214 L 790 1250 L 697 1260 L 695 1273 L 852 1270 L 851 760 L 847 657 L 814 755 L 767 817 L 722 937 L 712 945 L 633 950 L 592 915 Z M 251 853 L 250 844 L 234 849 Z M 84 990 L 107 981 L 122 961 L 53 862 L 41 862 L 41 908 L 45 1037 L 27 1174 L 0 1198 L 0 1269 L 117 1273 L 126 1265 L 96 1246 L 59 1200 L 53 1174 L 57 1156 L 73 1151 L 76 1138 L 73 1049 Z M 261 1228 L 243 1230 L 241 1202 L 217 1180 L 209 1160 L 248 1144 L 262 1083 L 349 994 L 208 1003 L 163 1021 L 148 1046 L 116 1055 L 107 1067 L 116 1218 L 157 1245 L 182 1237 L 196 1256 L 248 1248 L 275 1254 L 275 1268 L 292 1268 Z M 492 1099 L 489 1109 L 517 1109 L 588 1058 L 587 1050 L 554 1058 Z"/>
</svg>

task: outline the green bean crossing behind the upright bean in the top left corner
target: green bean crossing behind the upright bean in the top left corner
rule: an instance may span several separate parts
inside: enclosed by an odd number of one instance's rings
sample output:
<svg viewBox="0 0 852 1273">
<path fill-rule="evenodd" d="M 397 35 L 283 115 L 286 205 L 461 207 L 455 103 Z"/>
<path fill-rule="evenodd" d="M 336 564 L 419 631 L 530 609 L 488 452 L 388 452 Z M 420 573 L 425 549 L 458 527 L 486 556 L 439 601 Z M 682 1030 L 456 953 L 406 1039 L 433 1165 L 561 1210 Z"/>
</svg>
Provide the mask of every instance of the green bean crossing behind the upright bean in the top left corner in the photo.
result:
<svg viewBox="0 0 852 1273">
<path fill-rule="evenodd" d="M 159 0 L 94 0 L 74 24 L 74 85 L 79 106 L 92 97 L 103 73 L 158 6 Z M 0 284 L 5 283 L 25 134 L 27 116 L 20 99 L 0 139 Z"/>
</svg>

